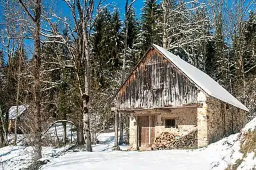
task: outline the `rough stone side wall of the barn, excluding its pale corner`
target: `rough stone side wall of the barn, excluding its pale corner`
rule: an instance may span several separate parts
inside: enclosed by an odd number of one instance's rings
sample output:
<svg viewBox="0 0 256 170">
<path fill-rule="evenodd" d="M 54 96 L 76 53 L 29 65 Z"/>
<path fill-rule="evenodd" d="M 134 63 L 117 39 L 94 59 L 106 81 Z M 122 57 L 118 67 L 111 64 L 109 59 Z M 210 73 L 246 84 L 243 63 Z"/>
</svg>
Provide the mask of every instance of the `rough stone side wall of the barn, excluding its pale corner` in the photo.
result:
<svg viewBox="0 0 256 170">
<path fill-rule="evenodd" d="M 207 97 L 207 140 L 213 143 L 239 132 L 247 123 L 247 112 L 219 99 Z"/>
</svg>

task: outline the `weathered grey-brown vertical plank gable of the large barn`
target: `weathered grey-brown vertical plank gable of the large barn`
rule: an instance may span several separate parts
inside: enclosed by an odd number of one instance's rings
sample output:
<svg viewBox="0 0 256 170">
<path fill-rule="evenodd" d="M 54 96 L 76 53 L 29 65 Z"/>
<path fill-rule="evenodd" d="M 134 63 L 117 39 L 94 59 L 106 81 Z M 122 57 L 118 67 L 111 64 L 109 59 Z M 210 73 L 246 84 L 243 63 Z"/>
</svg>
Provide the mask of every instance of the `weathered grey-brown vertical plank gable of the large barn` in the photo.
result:
<svg viewBox="0 0 256 170">
<path fill-rule="evenodd" d="M 197 103 L 197 88 L 157 50 L 150 49 L 115 97 L 119 109 L 181 107 Z"/>
</svg>

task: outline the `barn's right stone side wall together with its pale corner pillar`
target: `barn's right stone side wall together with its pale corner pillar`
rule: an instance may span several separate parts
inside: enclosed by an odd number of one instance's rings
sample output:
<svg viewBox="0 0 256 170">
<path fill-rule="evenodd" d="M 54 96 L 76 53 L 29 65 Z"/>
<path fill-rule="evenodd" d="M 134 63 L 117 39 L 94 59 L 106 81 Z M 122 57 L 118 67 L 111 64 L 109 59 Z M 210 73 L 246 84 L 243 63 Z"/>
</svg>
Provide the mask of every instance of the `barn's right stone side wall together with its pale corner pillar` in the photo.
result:
<svg viewBox="0 0 256 170">
<path fill-rule="evenodd" d="M 247 123 L 246 111 L 214 97 L 203 97 L 197 108 L 197 146 L 204 147 L 239 132 Z"/>
</svg>

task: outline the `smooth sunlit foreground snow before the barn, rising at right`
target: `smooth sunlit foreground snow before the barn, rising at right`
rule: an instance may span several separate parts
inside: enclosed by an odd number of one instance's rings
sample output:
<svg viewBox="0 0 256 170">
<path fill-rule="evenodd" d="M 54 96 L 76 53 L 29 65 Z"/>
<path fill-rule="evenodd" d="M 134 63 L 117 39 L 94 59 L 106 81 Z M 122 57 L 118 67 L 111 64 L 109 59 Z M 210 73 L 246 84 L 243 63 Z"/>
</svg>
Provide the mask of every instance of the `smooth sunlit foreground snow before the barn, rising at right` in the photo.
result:
<svg viewBox="0 0 256 170">
<path fill-rule="evenodd" d="M 171 151 L 109 151 L 101 153 L 71 153 L 57 159 L 42 169 L 225 169 L 228 165 L 243 160 L 238 169 L 256 168 L 255 153 L 243 157 L 240 153 L 243 136 L 254 130 L 256 118 L 248 123 L 241 133 L 230 135 L 208 147 L 195 150 Z"/>
</svg>

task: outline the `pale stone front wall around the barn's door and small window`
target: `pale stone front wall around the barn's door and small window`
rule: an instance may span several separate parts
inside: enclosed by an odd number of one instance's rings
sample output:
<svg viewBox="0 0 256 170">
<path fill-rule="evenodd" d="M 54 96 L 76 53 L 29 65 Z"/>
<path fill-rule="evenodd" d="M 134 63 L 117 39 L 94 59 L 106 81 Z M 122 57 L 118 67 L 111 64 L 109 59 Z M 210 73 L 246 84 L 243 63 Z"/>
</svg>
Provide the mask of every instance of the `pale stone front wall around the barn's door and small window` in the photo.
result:
<svg viewBox="0 0 256 170">
<path fill-rule="evenodd" d="M 197 107 L 179 109 L 155 109 L 151 111 L 136 111 L 130 116 L 129 143 L 131 149 L 137 149 L 137 122 L 136 117 L 141 115 L 155 115 L 155 137 L 167 131 L 178 135 L 187 134 L 197 128 Z M 165 128 L 165 119 L 175 119 L 175 128 Z"/>
</svg>

